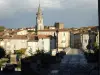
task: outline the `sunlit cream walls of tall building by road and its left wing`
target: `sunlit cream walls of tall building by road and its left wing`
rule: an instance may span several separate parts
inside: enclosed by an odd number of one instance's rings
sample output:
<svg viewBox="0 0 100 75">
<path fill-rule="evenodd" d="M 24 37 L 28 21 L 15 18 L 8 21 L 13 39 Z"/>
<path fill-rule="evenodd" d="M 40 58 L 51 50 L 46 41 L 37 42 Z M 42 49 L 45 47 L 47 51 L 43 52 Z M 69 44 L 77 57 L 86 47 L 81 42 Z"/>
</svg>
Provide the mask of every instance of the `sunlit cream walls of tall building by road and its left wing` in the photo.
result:
<svg viewBox="0 0 100 75">
<path fill-rule="evenodd" d="M 45 31 L 45 32 L 38 32 L 38 34 L 44 35 L 56 35 L 56 31 Z M 65 36 L 63 35 L 65 33 Z M 62 40 L 65 40 L 65 43 L 61 43 Z M 59 31 L 58 33 L 58 47 L 69 47 L 70 46 L 70 32 L 69 31 Z"/>
</svg>

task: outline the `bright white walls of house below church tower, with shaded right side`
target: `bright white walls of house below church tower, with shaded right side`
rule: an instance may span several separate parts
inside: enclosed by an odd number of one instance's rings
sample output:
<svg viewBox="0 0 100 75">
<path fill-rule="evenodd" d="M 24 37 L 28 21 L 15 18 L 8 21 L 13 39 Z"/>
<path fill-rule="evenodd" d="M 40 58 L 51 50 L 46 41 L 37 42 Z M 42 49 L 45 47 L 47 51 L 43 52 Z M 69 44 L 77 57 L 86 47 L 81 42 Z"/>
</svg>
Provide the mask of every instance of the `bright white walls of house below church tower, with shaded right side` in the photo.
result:
<svg viewBox="0 0 100 75">
<path fill-rule="evenodd" d="M 51 42 L 51 44 L 50 44 Z M 35 54 L 36 50 L 44 50 L 45 52 L 50 52 L 51 49 L 55 49 L 55 39 L 53 38 L 41 38 L 38 41 L 28 42 L 28 49 L 26 51 L 27 55 L 30 55 L 29 50 L 32 49 L 32 53 Z"/>
</svg>

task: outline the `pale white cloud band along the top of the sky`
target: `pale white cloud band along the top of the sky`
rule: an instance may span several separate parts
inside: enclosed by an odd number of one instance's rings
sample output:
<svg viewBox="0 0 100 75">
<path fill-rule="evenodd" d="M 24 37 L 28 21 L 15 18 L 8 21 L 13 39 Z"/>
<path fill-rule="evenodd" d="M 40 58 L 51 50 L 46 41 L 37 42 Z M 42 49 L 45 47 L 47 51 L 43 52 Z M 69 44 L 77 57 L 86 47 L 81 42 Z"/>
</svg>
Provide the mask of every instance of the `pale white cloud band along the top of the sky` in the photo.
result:
<svg viewBox="0 0 100 75">
<path fill-rule="evenodd" d="M 40 0 L 42 9 L 97 8 L 97 0 Z M 39 0 L 0 0 L 0 18 L 18 12 L 36 12 Z"/>
</svg>

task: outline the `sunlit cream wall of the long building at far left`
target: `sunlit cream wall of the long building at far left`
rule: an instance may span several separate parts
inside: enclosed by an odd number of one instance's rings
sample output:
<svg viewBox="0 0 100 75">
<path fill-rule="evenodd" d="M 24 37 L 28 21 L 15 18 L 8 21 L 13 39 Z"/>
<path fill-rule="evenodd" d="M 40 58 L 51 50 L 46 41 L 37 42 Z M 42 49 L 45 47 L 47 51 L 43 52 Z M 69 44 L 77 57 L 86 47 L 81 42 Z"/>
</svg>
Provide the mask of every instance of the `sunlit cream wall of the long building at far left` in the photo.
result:
<svg viewBox="0 0 100 75">
<path fill-rule="evenodd" d="M 21 48 L 27 48 L 27 40 L 26 39 L 4 39 L 3 41 L 4 49 L 12 53 L 14 50 L 19 50 Z"/>
</svg>

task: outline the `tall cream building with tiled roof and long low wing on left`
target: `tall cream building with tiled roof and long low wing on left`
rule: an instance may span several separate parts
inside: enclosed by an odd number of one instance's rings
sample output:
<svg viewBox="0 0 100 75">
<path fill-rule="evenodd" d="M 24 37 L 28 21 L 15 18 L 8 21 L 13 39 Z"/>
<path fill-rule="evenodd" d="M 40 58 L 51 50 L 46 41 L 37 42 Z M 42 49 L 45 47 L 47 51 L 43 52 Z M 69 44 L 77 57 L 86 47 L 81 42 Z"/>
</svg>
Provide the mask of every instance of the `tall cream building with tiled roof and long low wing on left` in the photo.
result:
<svg viewBox="0 0 100 75">
<path fill-rule="evenodd" d="M 57 37 L 57 29 L 39 30 L 39 35 L 52 35 Z M 70 31 L 67 29 L 58 29 L 58 47 L 70 47 Z"/>
</svg>

